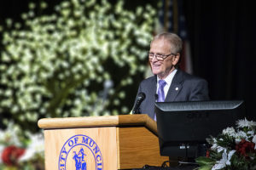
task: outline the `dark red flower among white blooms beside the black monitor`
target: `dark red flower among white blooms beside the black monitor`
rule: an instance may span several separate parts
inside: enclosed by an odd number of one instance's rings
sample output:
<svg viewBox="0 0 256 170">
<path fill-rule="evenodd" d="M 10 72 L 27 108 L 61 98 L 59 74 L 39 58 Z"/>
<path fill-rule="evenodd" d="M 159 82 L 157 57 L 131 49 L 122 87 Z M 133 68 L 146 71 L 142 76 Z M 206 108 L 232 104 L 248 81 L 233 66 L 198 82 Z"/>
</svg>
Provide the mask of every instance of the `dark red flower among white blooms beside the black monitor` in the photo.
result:
<svg viewBox="0 0 256 170">
<path fill-rule="evenodd" d="M 241 155 L 248 157 L 248 153 L 255 152 L 254 150 L 255 144 L 253 142 L 248 142 L 245 139 L 241 139 L 239 144 L 236 144 L 236 151 Z"/>
</svg>

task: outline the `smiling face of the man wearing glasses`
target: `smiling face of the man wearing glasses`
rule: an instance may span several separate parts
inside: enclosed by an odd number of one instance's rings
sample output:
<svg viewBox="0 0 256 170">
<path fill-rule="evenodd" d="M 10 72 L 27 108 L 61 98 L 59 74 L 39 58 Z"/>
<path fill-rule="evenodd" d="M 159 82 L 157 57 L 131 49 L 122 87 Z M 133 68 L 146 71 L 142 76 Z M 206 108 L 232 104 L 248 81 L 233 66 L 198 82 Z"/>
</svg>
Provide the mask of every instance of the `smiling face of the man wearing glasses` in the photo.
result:
<svg viewBox="0 0 256 170">
<path fill-rule="evenodd" d="M 150 45 L 149 53 L 153 54 L 172 54 L 169 42 L 164 39 L 156 39 Z M 174 65 L 177 64 L 179 59 L 179 54 L 169 55 L 164 60 L 158 60 L 154 56 L 153 59 L 149 59 L 151 65 L 151 70 L 154 75 L 157 75 L 160 79 L 166 78 L 175 68 Z"/>
</svg>

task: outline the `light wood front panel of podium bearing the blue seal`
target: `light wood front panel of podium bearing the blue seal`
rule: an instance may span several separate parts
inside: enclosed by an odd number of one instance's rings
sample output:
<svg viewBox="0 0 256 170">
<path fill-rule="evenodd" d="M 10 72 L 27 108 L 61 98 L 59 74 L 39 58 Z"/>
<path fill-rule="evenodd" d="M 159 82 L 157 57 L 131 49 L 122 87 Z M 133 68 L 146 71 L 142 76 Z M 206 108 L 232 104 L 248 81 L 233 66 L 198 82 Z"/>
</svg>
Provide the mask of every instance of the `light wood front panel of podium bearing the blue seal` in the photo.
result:
<svg viewBox="0 0 256 170">
<path fill-rule="evenodd" d="M 45 169 L 117 169 L 116 128 L 44 130 Z"/>
</svg>

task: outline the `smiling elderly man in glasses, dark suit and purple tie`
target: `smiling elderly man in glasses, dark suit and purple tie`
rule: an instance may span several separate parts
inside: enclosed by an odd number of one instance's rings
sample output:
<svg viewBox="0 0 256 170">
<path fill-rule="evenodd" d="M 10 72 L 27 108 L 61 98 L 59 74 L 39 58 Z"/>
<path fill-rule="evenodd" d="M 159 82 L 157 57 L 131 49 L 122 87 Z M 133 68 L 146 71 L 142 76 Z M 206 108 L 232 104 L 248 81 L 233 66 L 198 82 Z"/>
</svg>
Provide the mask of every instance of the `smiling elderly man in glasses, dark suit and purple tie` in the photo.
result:
<svg viewBox="0 0 256 170">
<path fill-rule="evenodd" d="M 173 33 L 161 33 L 150 44 L 148 59 L 154 74 L 140 83 L 137 96 L 145 99 L 137 112 L 155 120 L 154 102 L 208 100 L 207 81 L 177 68 L 183 42 Z M 137 100 L 135 101 L 137 102 Z"/>
</svg>

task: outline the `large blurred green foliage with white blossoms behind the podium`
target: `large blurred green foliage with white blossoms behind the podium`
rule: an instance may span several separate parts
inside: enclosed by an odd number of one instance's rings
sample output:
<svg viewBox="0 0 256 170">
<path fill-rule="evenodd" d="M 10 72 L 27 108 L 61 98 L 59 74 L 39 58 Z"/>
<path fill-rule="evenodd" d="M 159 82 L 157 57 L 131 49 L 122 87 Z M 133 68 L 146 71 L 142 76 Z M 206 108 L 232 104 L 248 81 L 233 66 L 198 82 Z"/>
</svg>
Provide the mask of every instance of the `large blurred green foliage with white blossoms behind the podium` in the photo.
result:
<svg viewBox="0 0 256 170">
<path fill-rule="evenodd" d="M 127 114 L 146 69 L 155 9 L 123 1 L 63 1 L 53 14 L 31 3 L 24 25 L 2 27 L 0 114 L 23 129 L 41 117 Z M 108 98 L 100 94 L 112 81 Z M 125 99 L 130 99 L 129 104 Z M 132 100 L 131 100 L 132 99 Z"/>
</svg>

